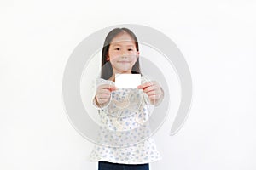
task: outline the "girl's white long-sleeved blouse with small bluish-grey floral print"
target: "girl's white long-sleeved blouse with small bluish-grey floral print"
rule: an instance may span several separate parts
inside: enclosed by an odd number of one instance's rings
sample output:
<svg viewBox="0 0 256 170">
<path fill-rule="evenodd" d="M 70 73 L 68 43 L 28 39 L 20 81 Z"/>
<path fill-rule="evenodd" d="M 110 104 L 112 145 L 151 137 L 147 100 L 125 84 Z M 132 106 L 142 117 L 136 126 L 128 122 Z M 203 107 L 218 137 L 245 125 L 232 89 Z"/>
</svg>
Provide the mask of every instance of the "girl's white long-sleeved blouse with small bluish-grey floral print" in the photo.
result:
<svg viewBox="0 0 256 170">
<path fill-rule="evenodd" d="M 142 76 L 141 83 L 144 82 L 148 79 Z M 98 78 L 96 88 L 102 84 L 114 85 L 114 82 Z M 97 106 L 95 98 L 93 105 L 99 112 L 101 127 L 90 161 L 143 164 L 161 159 L 150 137 L 148 119 L 153 105 L 143 90 L 119 88 L 111 93 L 108 105 Z"/>
</svg>

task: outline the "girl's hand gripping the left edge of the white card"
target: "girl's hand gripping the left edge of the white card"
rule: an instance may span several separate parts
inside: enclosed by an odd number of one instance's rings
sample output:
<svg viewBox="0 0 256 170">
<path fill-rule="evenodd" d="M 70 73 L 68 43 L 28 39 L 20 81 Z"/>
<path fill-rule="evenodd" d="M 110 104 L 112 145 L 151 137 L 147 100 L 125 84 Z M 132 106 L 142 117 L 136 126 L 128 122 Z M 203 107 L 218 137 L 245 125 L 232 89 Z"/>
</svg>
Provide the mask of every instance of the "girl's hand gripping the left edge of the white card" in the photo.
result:
<svg viewBox="0 0 256 170">
<path fill-rule="evenodd" d="M 111 92 L 113 92 L 116 89 L 118 88 L 109 84 L 102 84 L 98 86 L 96 90 L 96 103 L 99 105 L 107 104 L 110 99 Z"/>
</svg>

